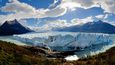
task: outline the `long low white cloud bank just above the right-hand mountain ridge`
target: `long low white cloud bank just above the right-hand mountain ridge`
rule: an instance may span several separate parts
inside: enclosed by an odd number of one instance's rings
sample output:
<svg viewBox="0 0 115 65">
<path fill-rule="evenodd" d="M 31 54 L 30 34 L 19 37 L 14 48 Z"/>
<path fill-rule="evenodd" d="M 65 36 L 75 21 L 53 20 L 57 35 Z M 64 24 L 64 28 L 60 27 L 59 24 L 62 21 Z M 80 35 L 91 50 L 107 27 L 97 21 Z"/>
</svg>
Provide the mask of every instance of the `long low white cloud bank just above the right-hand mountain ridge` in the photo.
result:
<svg viewBox="0 0 115 65">
<path fill-rule="evenodd" d="M 90 16 L 84 19 L 75 18 L 72 19 L 70 22 L 67 22 L 67 20 L 52 20 L 52 21 L 47 21 L 45 25 L 50 27 L 68 27 L 73 25 L 81 25 L 87 22 L 93 22 L 93 17 Z"/>
</svg>

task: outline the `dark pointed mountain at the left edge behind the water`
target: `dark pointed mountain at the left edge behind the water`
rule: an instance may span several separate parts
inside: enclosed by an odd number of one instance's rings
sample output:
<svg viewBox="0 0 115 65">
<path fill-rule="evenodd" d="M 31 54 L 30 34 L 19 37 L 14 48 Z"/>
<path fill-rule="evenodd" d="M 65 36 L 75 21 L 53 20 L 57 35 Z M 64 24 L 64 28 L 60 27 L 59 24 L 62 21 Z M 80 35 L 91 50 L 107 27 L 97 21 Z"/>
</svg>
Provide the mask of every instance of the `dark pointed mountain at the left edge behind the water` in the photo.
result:
<svg viewBox="0 0 115 65">
<path fill-rule="evenodd" d="M 0 35 L 13 35 L 13 34 L 23 34 L 32 32 L 27 27 L 21 25 L 16 19 L 13 21 L 6 21 L 0 26 Z"/>
</svg>

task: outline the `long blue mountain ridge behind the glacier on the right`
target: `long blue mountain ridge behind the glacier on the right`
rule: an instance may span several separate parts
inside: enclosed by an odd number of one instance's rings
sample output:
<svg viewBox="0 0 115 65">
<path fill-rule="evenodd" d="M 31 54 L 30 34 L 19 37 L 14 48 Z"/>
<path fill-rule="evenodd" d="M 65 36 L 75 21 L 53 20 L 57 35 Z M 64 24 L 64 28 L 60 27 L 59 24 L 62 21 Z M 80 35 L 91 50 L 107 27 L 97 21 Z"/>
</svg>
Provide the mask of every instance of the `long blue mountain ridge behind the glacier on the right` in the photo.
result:
<svg viewBox="0 0 115 65">
<path fill-rule="evenodd" d="M 101 20 L 97 22 L 88 22 L 83 25 L 75 25 L 65 28 L 55 29 L 56 31 L 68 31 L 68 32 L 88 32 L 88 33 L 107 33 L 115 34 L 115 26 L 103 22 Z"/>
</svg>

